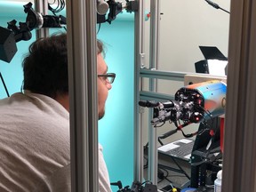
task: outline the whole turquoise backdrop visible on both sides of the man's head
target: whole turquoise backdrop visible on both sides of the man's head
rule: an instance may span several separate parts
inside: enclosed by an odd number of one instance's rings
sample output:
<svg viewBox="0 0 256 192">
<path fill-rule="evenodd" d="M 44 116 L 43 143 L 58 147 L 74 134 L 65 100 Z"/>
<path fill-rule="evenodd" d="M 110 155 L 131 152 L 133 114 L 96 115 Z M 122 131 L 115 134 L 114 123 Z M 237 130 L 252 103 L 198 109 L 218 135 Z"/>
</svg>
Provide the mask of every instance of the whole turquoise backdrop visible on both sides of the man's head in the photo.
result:
<svg viewBox="0 0 256 192">
<path fill-rule="evenodd" d="M 7 21 L 26 20 L 22 3 L 0 1 L 0 26 L 7 28 Z M 65 15 L 65 13 L 60 13 Z M 97 25 L 96 30 L 98 30 Z M 51 32 L 54 32 L 51 30 Z M 133 180 L 133 74 L 134 74 L 134 18 L 132 13 L 120 13 L 110 25 L 102 23 L 98 38 L 106 46 L 105 60 L 108 72 L 116 73 L 116 80 L 108 94 L 106 115 L 99 122 L 99 141 L 103 146 L 111 182 L 121 180 L 123 186 Z M 17 43 L 18 52 L 7 63 L 0 60 L 0 72 L 10 94 L 20 92 L 23 75 L 21 61 L 28 46 L 35 41 L 35 30 L 29 41 Z M 0 82 L 0 99 L 6 97 Z M 112 187 L 117 191 L 117 187 Z"/>
</svg>

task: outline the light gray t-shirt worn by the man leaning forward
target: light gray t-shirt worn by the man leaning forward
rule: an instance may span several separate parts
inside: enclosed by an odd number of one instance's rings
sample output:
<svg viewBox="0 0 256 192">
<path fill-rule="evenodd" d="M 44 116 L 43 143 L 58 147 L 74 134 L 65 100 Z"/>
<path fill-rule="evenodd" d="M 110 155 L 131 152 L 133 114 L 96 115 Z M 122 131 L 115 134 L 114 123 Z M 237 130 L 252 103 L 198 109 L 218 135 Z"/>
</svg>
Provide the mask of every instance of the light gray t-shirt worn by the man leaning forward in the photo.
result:
<svg viewBox="0 0 256 192">
<path fill-rule="evenodd" d="M 99 190 L 109 192 L 99 146 Z M 0 191 L 70 192 L 69 114 L 42 94 L 0 100 Z"/>
</svg>

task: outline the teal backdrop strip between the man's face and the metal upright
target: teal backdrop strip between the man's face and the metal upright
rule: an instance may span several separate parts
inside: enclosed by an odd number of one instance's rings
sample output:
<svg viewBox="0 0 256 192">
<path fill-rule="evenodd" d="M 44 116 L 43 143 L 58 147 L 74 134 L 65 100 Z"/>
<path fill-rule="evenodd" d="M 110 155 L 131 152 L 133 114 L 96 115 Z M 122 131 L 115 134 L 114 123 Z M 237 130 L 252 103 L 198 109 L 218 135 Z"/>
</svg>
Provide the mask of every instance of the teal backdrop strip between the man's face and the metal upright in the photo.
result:
<svg viewBox="0 0 256 192">
<path fill-rule="evenodd" d="M 122 16 L 124 20 L 114 20 L 111 25 L 101 24 L 98 34 L 107 45 L 108 71 L 116 73 L 108 95 L 106 116 L 99 122 L 99 140 L 104 147 L 110 180 L 121 180 L 126 186 L 132 184 L 133 178 L 134 23 Z"/>
</svg>

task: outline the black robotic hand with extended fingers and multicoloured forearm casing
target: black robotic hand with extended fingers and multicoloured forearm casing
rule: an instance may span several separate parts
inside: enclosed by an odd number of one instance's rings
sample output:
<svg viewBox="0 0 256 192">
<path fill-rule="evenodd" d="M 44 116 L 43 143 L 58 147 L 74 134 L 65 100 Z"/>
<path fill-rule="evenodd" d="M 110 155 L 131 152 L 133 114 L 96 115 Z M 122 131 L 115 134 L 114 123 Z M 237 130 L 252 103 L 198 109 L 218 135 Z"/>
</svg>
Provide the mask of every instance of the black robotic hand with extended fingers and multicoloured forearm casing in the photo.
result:
<svg viewBox="0 0 256 192">
<path fill-rule="evenodd" d="M 200 123 L 212 117 L 224 114 L 227 84 L 220 81 L 208 81 L 190 84 L 175 93 L 175 100 L 167 102 L 140 101 L 141 107 L 154 108 L 151 121 L 153 126 L 174 123 L 177 129 L 192 123 Z M 180 124 L 180 121 L 183 124 Z M 160 125 L 161 126 L 161 125 Z"/>
</svg>

